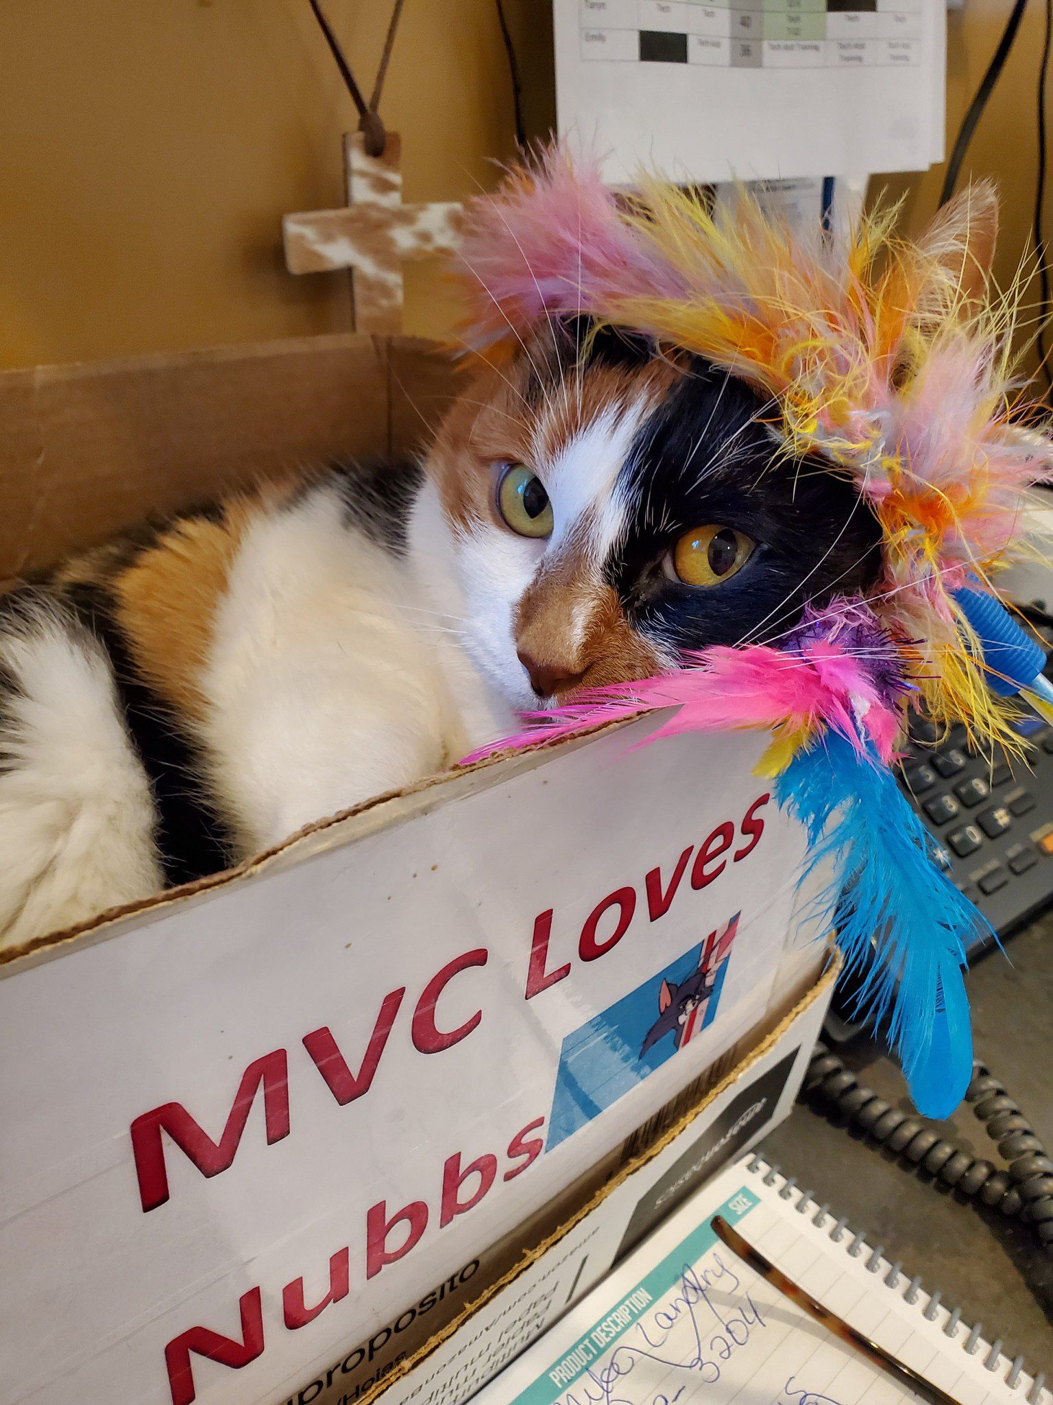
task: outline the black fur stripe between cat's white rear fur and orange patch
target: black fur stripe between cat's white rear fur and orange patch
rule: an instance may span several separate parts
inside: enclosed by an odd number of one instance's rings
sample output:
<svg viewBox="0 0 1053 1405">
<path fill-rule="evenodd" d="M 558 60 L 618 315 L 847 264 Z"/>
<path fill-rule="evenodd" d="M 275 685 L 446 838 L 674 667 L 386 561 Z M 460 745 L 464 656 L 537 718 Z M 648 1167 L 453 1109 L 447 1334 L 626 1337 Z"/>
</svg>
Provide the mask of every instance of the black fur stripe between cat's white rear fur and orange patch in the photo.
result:
<svg viewBox="0 0 1053 1405">
<path fill-rule="evenodd" d="M 198 783 L 202 756 L 177 714 L 135 667 L 104 586 L 65 586 L 62 599 L 110 656 L 132 746 L 143 764 L 157 813 L 154 836 L 166 884 L 194 882 L 226 868 L 233 851 L 225 825 Z"/>
</svg>

